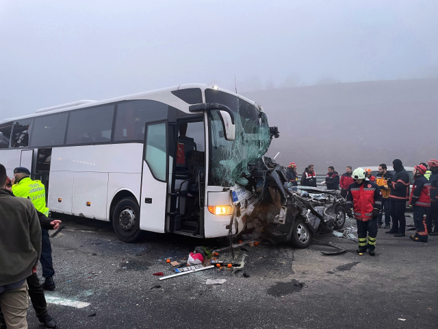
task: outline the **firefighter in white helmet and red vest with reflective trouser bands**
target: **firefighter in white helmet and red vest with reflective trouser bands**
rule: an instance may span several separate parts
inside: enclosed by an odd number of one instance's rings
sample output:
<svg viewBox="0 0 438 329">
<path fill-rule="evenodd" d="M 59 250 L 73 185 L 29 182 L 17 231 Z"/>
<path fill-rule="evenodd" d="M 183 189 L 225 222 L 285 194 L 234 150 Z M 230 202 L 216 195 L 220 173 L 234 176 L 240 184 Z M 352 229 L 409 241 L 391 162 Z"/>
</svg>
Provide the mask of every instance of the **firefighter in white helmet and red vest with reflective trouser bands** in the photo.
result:
<svg viewBox="0 0 438 329">
<path fill-rule="evenodd" d="M 381 188 L 376 183 L 365 180 L 365 170 L 362 168 L 355 169 L 352 178 L 355 182 L 348 186 L 346 207 L 348 217 L 352 217 L 354 212 L 357 221 L 357 253 L 361 254 L 368 249 L 370 256 L 376 256 L 377 217 L 382 208 Z"/>
</svg>

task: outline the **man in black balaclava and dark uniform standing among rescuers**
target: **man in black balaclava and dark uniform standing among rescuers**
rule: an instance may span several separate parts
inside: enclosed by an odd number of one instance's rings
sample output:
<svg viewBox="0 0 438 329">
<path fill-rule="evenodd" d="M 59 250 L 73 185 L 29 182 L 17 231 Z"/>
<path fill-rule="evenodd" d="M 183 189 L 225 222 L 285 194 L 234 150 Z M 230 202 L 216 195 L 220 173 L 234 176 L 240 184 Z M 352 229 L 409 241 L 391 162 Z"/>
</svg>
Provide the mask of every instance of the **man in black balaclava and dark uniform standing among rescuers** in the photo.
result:
<svg viewBox="0 0 438 329">
<path fill-rule="evenodd" d="M 392 167 L 396 174 L 393 180 L 387 180 L 387 185 L 391 189 L 389 193 L 391 209 L 392 228 L 386 231 L 387 234 L 394 234 L 394 236 L 405 236 L 406 218 L 404 212 L 406 211 L 406 202 L 409 201 L 409 174 L 404 170 L 402 160 L 396 159 L 392 162 Z"/>
</svg>

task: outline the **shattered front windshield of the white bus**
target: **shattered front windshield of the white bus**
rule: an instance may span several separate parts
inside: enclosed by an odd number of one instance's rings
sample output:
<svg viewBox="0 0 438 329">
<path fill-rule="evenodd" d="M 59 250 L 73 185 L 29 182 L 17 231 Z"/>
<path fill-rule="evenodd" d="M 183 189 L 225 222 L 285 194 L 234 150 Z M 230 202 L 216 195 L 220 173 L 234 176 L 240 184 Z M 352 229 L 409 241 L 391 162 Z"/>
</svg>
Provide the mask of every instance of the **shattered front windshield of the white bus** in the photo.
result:
<svg viewBox="0 0 438 329">
<path fill-rule="evenodd" d="M 248 165 L 268 151 L 268 119 L 252 104 L 220 90 L 206 89 L 205 100 L 226 105 L 235 114 L 235 141 L 227 141 L 218 111 L 209 113 L 209 185 L 233 186 L 236 180 L 249 175 Z"/>
</svg>

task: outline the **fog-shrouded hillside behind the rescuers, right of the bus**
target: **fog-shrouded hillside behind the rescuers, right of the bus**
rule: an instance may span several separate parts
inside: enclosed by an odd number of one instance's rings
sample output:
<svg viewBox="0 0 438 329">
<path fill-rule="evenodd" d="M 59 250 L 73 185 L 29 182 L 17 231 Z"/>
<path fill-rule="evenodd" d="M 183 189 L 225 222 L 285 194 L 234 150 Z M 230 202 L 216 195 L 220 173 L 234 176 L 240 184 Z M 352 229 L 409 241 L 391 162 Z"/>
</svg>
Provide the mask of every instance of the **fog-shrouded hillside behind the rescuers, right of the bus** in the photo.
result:
<svg viewBox="0 0 438 329">
<path fill-rule="evenodd" d="M 438 79 L 354 82 L 245 93 L 263 106 L 280 138 L 268 155 L 298 171 L 333 165 L 413 167 L 438 157 Z"/>
</svg>

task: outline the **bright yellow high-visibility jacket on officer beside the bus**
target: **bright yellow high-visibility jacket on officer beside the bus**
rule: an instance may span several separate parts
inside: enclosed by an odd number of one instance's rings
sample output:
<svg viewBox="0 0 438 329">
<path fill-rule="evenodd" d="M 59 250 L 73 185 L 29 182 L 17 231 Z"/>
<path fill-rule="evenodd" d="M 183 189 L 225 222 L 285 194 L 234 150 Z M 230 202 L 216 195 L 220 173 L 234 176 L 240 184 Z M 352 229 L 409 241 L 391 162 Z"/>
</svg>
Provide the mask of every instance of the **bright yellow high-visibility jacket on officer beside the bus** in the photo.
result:
<svg viewBox="0 0 438 329">
<path fill-rule="evenodd" d="M 23 178 L 18 184 L 12 185 L 12 193 L 16 197 L 26 197 L 34 204 L 36 210 L 49 216 L 49 208 L 46 207 L 46 189 L 39 180 Z"/>
</svg>

